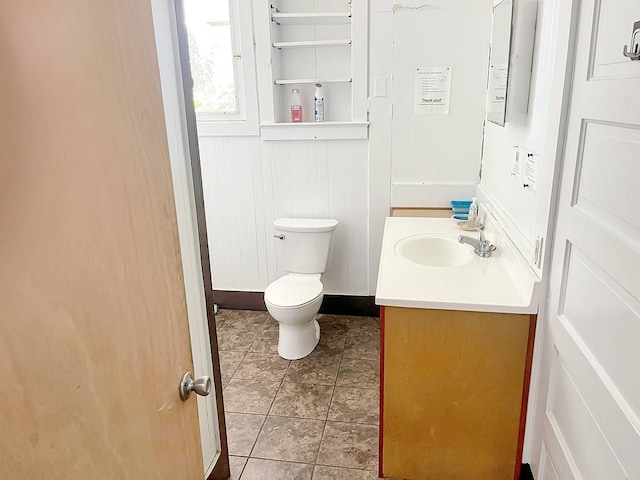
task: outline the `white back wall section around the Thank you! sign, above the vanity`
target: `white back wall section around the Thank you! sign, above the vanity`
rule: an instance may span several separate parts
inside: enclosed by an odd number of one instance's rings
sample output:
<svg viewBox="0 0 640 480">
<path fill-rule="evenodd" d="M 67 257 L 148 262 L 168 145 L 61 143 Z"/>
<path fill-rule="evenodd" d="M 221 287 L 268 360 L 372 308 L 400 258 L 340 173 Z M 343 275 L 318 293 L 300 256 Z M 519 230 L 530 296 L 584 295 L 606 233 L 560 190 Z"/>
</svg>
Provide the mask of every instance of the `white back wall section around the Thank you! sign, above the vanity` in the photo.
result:
<svg viewBox="0 0 640 480">
<path fill-rule="evenodd" d="M 492 1 L 423 3 L 392 7 L 391 201 L 448 207 L 480 179 Z M 419 67 L 451 67 L 447 115 L 414 112 Z"/>
</svg>

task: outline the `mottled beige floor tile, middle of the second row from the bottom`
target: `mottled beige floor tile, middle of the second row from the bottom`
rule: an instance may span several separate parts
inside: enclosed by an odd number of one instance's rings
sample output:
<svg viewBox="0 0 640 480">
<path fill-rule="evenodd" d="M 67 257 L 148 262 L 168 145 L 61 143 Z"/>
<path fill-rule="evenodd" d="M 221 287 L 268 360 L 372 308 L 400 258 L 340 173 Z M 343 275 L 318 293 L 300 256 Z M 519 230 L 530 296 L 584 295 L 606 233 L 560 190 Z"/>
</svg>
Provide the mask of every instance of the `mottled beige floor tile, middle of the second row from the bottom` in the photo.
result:
<svg viewBox="0 0 640 480">
<path fill-rule="evenodd" d="M 302 418 L 267 417 L 252 457 L 314 463 L 324 422 Z"/>
</svg>

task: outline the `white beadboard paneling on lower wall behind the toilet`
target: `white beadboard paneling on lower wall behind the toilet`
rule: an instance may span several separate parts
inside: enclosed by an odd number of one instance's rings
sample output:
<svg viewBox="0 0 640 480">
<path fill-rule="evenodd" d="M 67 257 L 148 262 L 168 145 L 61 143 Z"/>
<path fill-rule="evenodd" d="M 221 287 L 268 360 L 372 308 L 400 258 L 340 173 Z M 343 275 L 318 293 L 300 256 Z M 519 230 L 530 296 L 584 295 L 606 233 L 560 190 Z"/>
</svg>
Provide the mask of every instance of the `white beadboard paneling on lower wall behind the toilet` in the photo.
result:
<svg viewBox="0 0 640 480">
<path fill-rule="evenodd" d="M 366 140 L 200 137 L 213 286 L 263 291 L 278 268 L 273 221 L 335 218 L 327 293 L 368 294 Z"/>
</svg>

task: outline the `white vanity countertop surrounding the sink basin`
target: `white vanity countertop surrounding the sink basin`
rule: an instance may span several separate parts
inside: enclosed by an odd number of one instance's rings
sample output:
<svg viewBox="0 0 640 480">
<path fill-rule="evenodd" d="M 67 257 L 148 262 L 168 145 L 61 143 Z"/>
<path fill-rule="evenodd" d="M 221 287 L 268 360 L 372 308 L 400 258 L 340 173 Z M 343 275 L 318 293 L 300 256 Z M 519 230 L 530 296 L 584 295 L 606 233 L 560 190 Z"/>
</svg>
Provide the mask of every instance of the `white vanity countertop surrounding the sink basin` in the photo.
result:
<svg viewBox="0 0 640 480">
<path fill-rule="evenodd" d="M 413 235 L 457 239 L 477 238 L 449 218 L 387 218 L 382 240 L 376 304 L 441 310 L 535 314 L 541 282 L 501 231 L 495 220 L 484 220 L 484 234 L 496 245 L 489 258 L 475 253 L 459 267 L 430 267 L 396 254 L 399 241 Z M 467 246 L 473 250 L 471 246 Z"/>
</svg>

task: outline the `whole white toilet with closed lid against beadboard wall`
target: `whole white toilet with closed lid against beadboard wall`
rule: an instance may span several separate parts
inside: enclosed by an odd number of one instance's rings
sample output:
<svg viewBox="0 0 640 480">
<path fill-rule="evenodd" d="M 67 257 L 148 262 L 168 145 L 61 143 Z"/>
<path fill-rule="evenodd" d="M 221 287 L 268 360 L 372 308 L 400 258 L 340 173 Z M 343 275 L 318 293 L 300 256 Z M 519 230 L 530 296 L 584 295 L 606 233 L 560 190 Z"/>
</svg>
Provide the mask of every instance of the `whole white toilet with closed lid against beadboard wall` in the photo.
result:
<svg viewBox="0 0 640 480">
<path fill-rule="evenodd" d="M 316 314 L 324 288 L 331 237 L 337 220 L 280 218 L 273 222 L 278 265 L 287 273 L 264 292 L 267 310 L 278 321 L 278 353 L 287 360 L 306 357 L 320 340 Z"/>
</svg>

